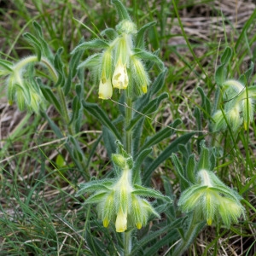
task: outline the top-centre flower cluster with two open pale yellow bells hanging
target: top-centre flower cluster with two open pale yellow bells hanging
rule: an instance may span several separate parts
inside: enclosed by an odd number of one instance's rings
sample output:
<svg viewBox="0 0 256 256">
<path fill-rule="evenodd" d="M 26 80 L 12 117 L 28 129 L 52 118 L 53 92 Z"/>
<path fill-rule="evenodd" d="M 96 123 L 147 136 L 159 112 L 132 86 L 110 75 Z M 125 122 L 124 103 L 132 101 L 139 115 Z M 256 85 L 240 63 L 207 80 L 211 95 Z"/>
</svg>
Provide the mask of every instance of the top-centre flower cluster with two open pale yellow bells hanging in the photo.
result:
<svg viewBox="0 0 256 256">
<path fill-rule="evenodd" d="M 138 40 L 136 25 L 128 17 L 121 20 L 115 30 L 108 28 L 103 31 L 102 36 L 108 41 L 94 39 L 73 49 L 73 54 L 81 49 L 102 49 L 102 52 L 91 55 L 79 65 L 79 68 L 90 68 L 95 83 L 99 84 L 99 98 L 109 99 L 113 95 L 113 88 L 125 90 L 128 85 L 138 95 L 146 93 L 149 77 L 144 61 L 158 62 L 160 65 L 162 62 L 135 43 L 143 41 L 143 38 Z"/>
</svg>

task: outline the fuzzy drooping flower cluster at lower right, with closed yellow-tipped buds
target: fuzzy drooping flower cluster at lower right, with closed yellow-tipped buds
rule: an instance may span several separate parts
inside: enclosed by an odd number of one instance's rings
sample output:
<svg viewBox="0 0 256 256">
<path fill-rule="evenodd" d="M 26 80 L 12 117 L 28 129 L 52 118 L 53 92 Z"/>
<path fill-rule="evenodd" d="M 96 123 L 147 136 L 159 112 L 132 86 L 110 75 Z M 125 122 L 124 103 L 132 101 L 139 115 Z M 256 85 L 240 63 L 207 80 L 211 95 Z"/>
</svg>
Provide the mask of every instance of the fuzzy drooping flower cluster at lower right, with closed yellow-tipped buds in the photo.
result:
<svg viewBox="0 0 256 256">
<path fill-rule="evenodd" d="M 241 206 L 241 196 L 227 187 L 212 172 L 201 170 L 197 173 L 197 183 L 183 191 L 178 206 L 183 212 L 195 210 L 197 216 L 207 220 L 221 218 L 226 226 L 237 223 L 244 207 Z"/>
</svg>

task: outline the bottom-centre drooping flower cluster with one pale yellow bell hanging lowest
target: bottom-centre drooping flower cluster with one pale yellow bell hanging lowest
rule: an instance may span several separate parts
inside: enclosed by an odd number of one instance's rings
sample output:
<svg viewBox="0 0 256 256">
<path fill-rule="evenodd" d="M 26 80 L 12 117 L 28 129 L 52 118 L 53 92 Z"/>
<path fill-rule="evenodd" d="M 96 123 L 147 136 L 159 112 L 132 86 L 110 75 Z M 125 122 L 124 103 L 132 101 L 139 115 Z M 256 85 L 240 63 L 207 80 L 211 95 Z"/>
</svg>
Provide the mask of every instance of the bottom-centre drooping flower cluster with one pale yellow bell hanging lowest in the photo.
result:
<svg viewBox="0 0 256 256">
<path fill-rule="evenodd" d="M 112 160 L 120 170 L 119 177 L 80 184 L 77 195 L 93 193 L 85 204 L 95 203 L 103 226 L 108 227 L 112 221 L 117 232 L 125 232 L 134 227 L 141 229 L 151 215 L 160 218 L 159 213 L 143 197 L 171 200 L 154 189 L 132 184 L 133 161 L 125 151 L 122 154 L 113 154 Z"/>
</svg>

